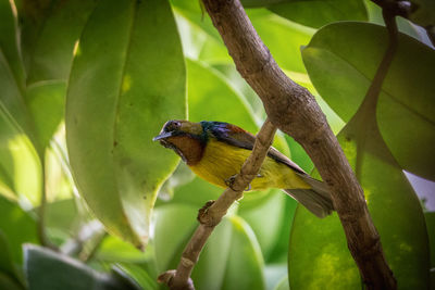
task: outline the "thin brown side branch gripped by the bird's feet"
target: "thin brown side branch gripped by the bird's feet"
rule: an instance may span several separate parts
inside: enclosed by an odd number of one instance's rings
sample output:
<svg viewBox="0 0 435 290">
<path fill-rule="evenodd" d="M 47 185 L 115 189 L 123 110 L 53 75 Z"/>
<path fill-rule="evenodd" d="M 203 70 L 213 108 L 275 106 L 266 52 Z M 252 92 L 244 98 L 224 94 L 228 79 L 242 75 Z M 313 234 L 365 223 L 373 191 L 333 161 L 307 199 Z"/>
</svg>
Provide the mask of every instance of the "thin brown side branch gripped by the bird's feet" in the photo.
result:
<svg viewBox="0 0 435 290">
<path fill-rule="evenodd" d="M 268 118 L 257 135 L 252 152 L 241 166 L 240 174 L 235 177 L 233 184 L 216 201 L 210 201 L 199 210 L 198 220 L 200 225 L 184 249 L 176 270 L 167 270 L 161 274 L 158 278 L 159 282 L 166 283 L 173 290 L 195 289 L 190 274 L 198 262 L 199 254 L 207 239 L 226 214 L 229 206 L 243 197 L 244 190 L 257 176 L 272 144 L 275 133 L 276 127 Z"/>
</svg>

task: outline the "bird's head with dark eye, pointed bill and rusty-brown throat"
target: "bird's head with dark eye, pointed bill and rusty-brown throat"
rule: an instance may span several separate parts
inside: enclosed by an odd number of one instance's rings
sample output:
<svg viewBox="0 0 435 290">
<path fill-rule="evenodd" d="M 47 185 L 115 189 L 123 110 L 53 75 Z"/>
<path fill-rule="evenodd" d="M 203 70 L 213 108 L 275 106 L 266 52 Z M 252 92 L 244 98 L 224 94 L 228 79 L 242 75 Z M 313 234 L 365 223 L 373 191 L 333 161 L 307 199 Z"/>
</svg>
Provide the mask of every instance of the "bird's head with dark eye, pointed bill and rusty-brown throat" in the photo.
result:
<svg viewBox="0 0 435 290">
<path fill-rule="evenodd" d="M 184 162 L 192 165 L 202 157 L 207 135 L 201 123 L 171 119 L 152 140 L 160 141 L 163 147 L 174 150 Z"/>
</svg>

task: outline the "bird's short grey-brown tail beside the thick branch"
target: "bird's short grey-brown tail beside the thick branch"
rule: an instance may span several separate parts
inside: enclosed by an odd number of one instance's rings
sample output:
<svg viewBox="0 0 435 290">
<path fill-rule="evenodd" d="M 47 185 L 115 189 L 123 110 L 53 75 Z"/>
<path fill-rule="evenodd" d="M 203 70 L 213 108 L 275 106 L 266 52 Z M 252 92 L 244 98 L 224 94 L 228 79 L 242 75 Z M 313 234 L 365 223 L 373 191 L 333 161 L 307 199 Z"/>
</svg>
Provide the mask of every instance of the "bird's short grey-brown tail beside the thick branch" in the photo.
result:
<svg viewBox="0 0 435 290">
<path fill-rule="evenodd" d="M 299 176 L 311 186 L 311 189 L 285 189 L 284 191 L 320 218 L 330 215 L 334 211 L 334 204 L 326 185 L 309 175 Z"/>
</svg>

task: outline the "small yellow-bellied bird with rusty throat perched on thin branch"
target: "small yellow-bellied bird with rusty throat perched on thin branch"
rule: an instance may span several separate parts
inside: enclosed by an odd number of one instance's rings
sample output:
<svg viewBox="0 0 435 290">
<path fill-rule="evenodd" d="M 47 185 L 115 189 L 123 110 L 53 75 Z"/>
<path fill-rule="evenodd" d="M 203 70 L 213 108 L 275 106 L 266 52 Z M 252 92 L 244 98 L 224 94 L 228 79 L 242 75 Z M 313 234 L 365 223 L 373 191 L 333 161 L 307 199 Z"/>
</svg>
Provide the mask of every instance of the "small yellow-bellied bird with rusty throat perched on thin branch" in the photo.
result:
<svg viewBox="0 0 435 290">
<path fill-rule="evenodd" d="M 153 138 L 177 153 L 199 177 L 222 188 L 240 172 L 256 137 L 228 123 L 169 121 Z M 326 185 L 271 147 L 250 190 L 279 188 L 319 217 L 334 210 Z"/>
</svg>

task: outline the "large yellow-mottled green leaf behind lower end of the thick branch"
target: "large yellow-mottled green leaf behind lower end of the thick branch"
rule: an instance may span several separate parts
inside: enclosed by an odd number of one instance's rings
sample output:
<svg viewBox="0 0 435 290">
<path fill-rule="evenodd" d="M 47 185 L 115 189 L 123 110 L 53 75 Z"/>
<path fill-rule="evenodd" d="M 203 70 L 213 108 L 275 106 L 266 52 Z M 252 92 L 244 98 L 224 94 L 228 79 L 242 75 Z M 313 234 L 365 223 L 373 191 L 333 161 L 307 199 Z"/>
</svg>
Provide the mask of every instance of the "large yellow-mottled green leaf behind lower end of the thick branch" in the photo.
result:
<svg viewBox="0 0 435 290">
<path fill-rule="evenodd" d="M 385 144 L 371 108 L 361 106 L 338 135 L 338 140 L 364 190 L 398 285 L 403 289 L 424 289 L 428 286 L 430 264 L 422 207 Z M 336 214 L 319 219 L 298 206 L 288 255 L 290 288 L 361 287 L 359 270 Z"/>
</svg>

